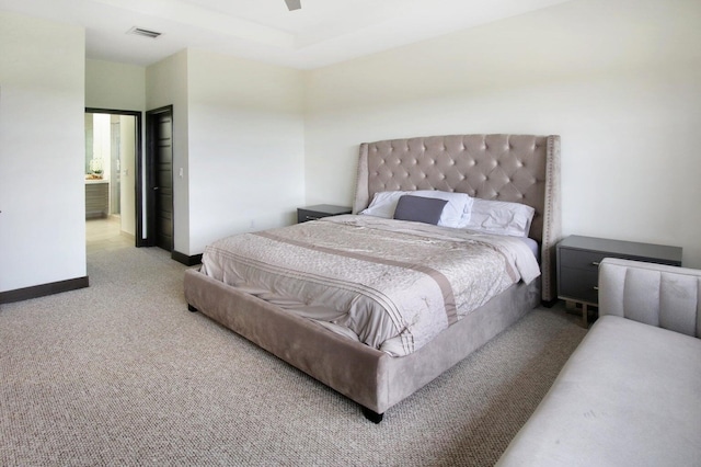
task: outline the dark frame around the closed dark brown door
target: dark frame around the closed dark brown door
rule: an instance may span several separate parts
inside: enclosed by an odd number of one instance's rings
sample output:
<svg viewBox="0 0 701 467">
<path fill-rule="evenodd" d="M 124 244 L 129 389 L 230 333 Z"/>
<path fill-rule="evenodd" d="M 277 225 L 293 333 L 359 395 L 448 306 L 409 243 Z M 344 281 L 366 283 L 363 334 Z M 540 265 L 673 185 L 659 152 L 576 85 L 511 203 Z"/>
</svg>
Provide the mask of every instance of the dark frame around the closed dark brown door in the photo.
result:
<svg viewBox="0 0 701 467">
<path fill-rule="evenodd" d="M 146 208 L 146 235 L 143 236 L 143 247 L 156 247 L 156 192 L 153 187 L 157 185 L 156 180 L 156 152 L 157 152 L 157 138 L 158 130 L 156 129 L 159 125 L 158 116 L 163 113 L 170 113 L 171 122 L 173 119 L 173 105 L 165 105 L 162 107 L 153 109 L 150 111 L 146 111 L 146 158 L 145 158 L 145 168 L 143 168 L 143 180 L 146 180 L 146 186 L 142 190 L 145 193 L 145 208 Z M 172 123 L 171 123 L 172 125 Z M 173 133 L 171 132 L 171 143 L 174 139 Z M 175 146 L 173 148 L 173 167 L 175 166 Z M 173 183 L 173 204 L 175 203 L 175 184 Z M 172 206 L 173 212 L 173 246 L 171 250 L 171 254 L 175 251 L 175 206 Z"/>
</svg>

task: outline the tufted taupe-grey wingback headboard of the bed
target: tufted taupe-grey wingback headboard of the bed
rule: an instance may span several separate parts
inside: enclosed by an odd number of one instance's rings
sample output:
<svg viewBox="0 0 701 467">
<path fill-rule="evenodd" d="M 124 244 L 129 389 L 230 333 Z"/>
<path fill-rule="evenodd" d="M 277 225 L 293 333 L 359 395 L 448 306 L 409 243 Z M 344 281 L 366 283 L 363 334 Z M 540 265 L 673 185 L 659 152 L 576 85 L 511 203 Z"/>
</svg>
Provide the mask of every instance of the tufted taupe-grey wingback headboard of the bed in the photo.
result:
<svg viewBox="0 0 701 467">
<path fill-rule="evenodd" d="M 377 192 L 440 190 L 536 208 L 530 237 L 541 246 L 542 299 L 556 297 L 561 238 L 560 136 L 451 135 L 360 145 L 353 213 Z"/>
</svg>

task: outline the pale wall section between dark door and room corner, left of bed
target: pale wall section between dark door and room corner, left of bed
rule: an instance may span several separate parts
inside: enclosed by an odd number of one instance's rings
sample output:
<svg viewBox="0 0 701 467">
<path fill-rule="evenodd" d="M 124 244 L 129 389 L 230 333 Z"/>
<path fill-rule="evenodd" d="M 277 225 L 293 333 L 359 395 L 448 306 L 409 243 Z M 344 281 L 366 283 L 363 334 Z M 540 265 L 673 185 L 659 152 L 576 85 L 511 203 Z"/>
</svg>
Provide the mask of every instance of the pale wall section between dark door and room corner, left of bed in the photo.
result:
<svg viewBox="0 0 701 467">
<path fill-rule="evenodd" d="M 188 254 L 292 224 L 304 202 L 302 71 L 189 49 Z"/>
</svg>

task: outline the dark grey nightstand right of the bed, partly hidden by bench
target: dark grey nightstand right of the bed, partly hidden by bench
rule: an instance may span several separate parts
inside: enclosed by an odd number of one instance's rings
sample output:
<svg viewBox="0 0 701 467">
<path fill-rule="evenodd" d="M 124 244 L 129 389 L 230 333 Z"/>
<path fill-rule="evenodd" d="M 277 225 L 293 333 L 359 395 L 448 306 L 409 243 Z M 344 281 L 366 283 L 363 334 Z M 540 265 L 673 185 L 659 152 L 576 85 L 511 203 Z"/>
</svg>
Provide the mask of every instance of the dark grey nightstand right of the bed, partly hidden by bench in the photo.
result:
<svg viewBox="0 0 701 467">
<path fill-rule="evenodd" d="M 558 243 L 558 298 L 568 308 L 582 307 L 583 324 L 587 326 L 589 306 L 599 304 L 599 263 L 605 258 L 681 265 L 681 248 L 637 243 L 605 238 L 567 237 Z"/>
</svg>

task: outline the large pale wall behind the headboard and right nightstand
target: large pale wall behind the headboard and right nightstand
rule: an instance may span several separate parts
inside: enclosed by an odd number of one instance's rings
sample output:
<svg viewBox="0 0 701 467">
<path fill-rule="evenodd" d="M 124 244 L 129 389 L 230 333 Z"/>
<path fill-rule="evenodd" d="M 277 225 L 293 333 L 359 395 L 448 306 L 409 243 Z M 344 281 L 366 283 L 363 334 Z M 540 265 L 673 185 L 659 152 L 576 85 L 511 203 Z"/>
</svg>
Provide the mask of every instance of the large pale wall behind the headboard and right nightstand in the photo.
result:
<svg viewBox="0 0 701 467">
<path fill-rule="evenodd" d="M 349 204 L 357 145 L 562 136 L 563 229 L 701 267 L 701 2 L 574 0 L 307 73 L 307 202 Z"/>
</svg>

